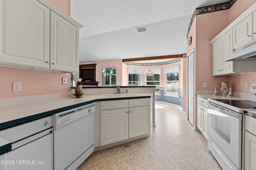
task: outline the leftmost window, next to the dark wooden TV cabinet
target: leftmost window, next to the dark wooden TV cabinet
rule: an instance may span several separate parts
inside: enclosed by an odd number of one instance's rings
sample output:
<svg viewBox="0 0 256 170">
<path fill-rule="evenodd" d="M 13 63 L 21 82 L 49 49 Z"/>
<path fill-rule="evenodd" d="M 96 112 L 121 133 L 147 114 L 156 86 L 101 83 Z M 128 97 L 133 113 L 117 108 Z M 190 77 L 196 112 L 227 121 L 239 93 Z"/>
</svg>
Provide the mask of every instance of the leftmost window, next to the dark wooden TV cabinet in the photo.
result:
<svg viewBox="0 0 256 170">
<path fill-rule="evenodd" d="M 116 84 L 116 67 L 102 68 L 102 86 L 114 86 Z"/>
</svg>

